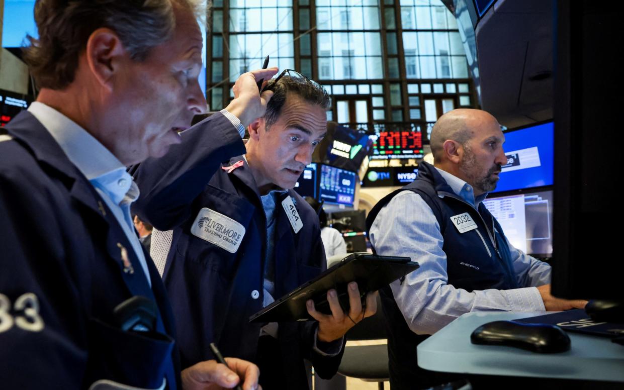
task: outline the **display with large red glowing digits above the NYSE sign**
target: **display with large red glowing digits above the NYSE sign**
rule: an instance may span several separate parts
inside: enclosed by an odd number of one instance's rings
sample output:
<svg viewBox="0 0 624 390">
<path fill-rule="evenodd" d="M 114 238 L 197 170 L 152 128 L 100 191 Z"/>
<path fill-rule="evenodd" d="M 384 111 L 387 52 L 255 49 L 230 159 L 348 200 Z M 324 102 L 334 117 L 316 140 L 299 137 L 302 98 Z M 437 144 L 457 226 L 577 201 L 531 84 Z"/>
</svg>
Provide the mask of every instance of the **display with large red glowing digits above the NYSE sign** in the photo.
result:
<svg viewBox="0 0 624 390">
<path fill-rule="evenodd" d="M 383 131 L 371 136 L 373 158 L 422 157 L 422 133 L 419 131 Z"/>
</svg>

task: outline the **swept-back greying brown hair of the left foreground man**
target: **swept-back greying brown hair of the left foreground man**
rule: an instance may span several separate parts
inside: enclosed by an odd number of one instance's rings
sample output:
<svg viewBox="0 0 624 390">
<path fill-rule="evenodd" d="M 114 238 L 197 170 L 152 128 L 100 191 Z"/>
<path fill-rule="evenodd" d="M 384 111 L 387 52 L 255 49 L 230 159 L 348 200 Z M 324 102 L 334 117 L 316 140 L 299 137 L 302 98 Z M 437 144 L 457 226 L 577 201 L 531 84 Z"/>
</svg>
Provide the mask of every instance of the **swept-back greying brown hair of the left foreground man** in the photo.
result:
<svg viewBox="0 0 624 390">
<path fill-rule="evenodd" d="M 175 2 L 196 11 L 193 2 Z M 50 89 L 74 81 L 80 53 L 96 29 L 115 31 L 135 61 L 144 61 L 175 29 L 172 0 L 37 0 L 34 17 L 39 38 L 27 37 L 24 61 L 36 84 Z"/>
</svg>

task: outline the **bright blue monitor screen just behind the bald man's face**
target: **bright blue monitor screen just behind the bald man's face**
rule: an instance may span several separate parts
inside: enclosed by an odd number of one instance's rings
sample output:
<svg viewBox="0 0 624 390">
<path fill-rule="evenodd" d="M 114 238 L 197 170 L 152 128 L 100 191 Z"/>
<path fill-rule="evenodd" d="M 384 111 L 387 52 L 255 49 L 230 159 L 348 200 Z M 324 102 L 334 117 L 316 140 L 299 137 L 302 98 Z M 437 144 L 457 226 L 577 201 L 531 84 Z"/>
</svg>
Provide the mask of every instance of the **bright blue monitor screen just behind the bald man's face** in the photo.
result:
<svg viewBox="0 0 624 390">
<path fill-rule="evenodd" d="M 553 184 L 553 124 L 532 125 L 505 134 L 502 166 L 494 192 L 542 187 Z"/>
</svg>

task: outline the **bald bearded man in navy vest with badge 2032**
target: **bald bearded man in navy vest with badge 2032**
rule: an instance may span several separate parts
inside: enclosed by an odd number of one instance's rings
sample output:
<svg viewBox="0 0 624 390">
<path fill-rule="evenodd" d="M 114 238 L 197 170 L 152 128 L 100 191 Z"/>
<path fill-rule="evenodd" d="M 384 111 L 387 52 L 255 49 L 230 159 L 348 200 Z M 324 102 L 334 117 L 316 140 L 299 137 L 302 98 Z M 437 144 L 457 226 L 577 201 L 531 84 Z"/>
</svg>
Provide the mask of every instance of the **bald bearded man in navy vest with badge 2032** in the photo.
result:
<svg viewBox="0 0 624 390">
<path fill-rule="evenodd" d="M 369 213 L 376 252 L 409 256 L 421 265 L 382 293 L 392 324 L 392 389 L 441 380 L 417 369 L 416 345 L 461 314 L 559 311 L 587 303 L 553 298 L 550 265 L 514 248 L 483 205 L 507 163 L 504 142 L 499 123 L 485 111 L 442 115 L 431 132 L 434 164 L 421 162 L 414 182 Z"/>
</svg>

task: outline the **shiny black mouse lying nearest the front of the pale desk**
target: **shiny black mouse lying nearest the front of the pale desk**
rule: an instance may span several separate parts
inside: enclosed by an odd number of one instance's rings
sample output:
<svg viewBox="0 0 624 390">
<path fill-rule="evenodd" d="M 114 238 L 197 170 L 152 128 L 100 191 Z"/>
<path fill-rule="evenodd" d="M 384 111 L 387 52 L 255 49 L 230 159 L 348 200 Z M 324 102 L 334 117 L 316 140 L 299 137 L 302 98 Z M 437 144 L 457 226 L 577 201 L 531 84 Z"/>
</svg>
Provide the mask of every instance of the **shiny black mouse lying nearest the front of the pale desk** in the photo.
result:
<svg viewBox="0 0 624 390">
<path fill-rule="evenodd" d="M 516 321 L 493 321 L 470 334 L 472 344 L 505 345 L 539 353 L 570 349 L 570 338 L 555 325 L 525 324 Z"/>
</svg>

